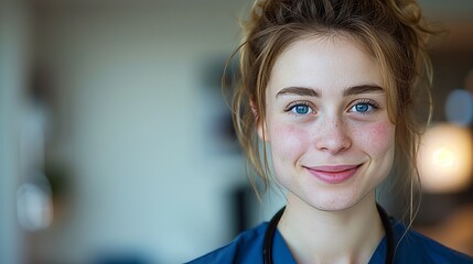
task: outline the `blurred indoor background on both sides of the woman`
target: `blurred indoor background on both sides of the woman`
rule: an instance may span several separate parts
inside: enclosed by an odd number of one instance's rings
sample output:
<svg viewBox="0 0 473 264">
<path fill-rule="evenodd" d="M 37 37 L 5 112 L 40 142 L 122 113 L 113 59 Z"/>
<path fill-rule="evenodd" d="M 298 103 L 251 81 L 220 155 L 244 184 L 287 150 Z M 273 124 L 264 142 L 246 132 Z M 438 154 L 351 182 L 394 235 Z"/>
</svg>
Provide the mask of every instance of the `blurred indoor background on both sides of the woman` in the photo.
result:
<svg viewBox="0 0 473 264">
<path fill-rule="evenodd" d="M 248 195 L 221 94 L 250 1 L 0 4 L 0 263 L 182 263 L 282 204 Z M 449 29 L 432 51 L 433 121 L 471 138 L 444 106 L 473 92 L 473 2 L 421 4 Z M 423 194 L 417 226 L 473 254 L 471 174 Z"/>
</svg>

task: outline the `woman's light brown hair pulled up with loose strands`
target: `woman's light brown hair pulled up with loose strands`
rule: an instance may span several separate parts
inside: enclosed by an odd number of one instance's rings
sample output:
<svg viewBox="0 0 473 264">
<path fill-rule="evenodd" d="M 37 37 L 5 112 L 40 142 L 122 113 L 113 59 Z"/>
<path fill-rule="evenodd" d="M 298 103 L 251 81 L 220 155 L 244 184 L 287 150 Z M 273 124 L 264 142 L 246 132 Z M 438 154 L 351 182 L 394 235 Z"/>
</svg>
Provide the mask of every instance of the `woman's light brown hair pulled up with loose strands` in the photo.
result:
<svg viewBox="0 0 473 264">
<path fill-rule="evenodd" d="M 270 183 L 266 145 L 256 128 L 266 114 L 265 92 L 278 56 L 307 36 L 348 36 L 380 65 L 389 119 L 396 124 L 396 186 L 410 191 L 412 221 L 413 188 L 420 185 L 417 151 L 429 118 L 418 119 L 418 91 L 427 91 L 430 117 L 431 65 L 427 46 L 433 31 L 415 0 L 267 0 L 256 1 L 240 46 L 240 84 L 233 97 L 233 118 L 238 140 L 265 190 Z M 252 105 L 251 105 L 252 103 Z M 251 105 L 251 106 L 250 106 Z M 264 128 L 265 129 L 265 128 Z M 265 133 L 262 133 L 265 134 Z M 255 187 L 255 189 L 257 189 Z M 410 222 L 411 222 L 410 221 Z"/>
</svg>

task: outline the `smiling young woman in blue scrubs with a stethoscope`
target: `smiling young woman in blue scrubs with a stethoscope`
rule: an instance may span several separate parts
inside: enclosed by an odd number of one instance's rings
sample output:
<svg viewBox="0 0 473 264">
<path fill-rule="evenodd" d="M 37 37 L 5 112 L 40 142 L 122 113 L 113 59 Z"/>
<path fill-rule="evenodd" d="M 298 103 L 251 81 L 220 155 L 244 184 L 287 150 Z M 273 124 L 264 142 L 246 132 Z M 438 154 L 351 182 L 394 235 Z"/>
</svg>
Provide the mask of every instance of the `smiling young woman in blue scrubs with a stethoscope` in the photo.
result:
<svg viewBox="0 0 473 264">
<path fill-rule="evenodd" d="M 287 205 L 191 263 L 473 263 L 387 217 L 375 199 L 396 168 L 415 210 L 427 122 L 415 116 L 416 95 L 430 85 L 430 30 L 417 3 L 257 1 L 246 30 L 235 127 Z"/>
</svg>

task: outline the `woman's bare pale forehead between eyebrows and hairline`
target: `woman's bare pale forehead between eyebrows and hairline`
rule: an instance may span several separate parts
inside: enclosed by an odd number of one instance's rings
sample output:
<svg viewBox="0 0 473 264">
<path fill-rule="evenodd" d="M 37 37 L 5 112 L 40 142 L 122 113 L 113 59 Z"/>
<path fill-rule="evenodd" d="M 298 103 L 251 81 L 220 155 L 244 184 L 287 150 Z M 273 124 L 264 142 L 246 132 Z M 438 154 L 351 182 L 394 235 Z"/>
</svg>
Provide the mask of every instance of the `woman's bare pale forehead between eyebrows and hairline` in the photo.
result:
<svg viewBox="0 0 473 264">
<path fill-rule="evenodd" d="M 294 41 L 276 59 L 267 92 L 288 86 L 336 90 L 363 85 L 383 87 L 379 64 L 346 36 L 310 36 Z"/>
</svg>

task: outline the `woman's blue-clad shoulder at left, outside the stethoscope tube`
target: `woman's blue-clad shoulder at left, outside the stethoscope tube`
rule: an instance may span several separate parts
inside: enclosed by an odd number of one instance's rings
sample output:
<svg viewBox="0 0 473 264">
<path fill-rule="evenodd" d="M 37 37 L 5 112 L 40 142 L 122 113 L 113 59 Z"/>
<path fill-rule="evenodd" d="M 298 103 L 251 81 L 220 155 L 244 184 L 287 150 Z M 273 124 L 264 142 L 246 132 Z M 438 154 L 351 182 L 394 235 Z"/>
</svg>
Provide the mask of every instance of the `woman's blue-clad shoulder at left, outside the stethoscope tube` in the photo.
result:
<svg viewBox="0 0 473 264">
<path fill-rule="evenodd" d="M 255 257 L 262 256 L 262 241 L 268 223 L 261 223 L 254 229 L 247 230 L 229 244 L 189 263 L 258 263 Z"/>
</svg>

